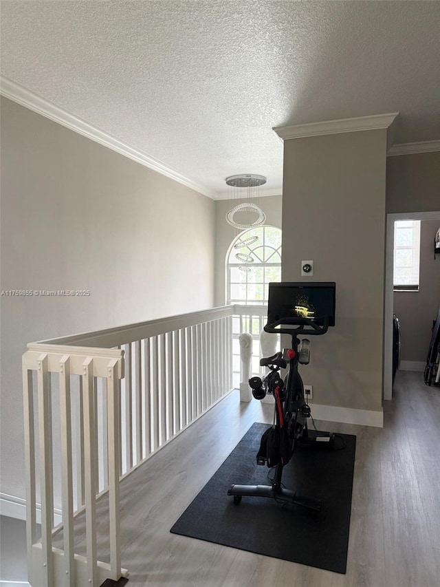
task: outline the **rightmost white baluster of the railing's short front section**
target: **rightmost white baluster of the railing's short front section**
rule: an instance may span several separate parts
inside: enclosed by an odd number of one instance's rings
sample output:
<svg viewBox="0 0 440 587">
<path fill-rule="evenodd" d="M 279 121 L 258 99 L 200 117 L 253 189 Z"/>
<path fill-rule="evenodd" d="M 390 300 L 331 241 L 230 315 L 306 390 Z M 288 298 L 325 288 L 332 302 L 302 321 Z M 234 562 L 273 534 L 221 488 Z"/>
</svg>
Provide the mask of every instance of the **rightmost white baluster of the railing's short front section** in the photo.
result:
<svg viewBox="0 0 440 587">
<path fill-rule="evenodd" d="M 118 376 L 112 359 L 107 374 L 107 455 L 109 461 L 109 531 L 110 531 L 110 579 L 119 579 L 120 553 L 120 505 L 119 505 L 119 431 L 118 431 Z"/>
</svg>

